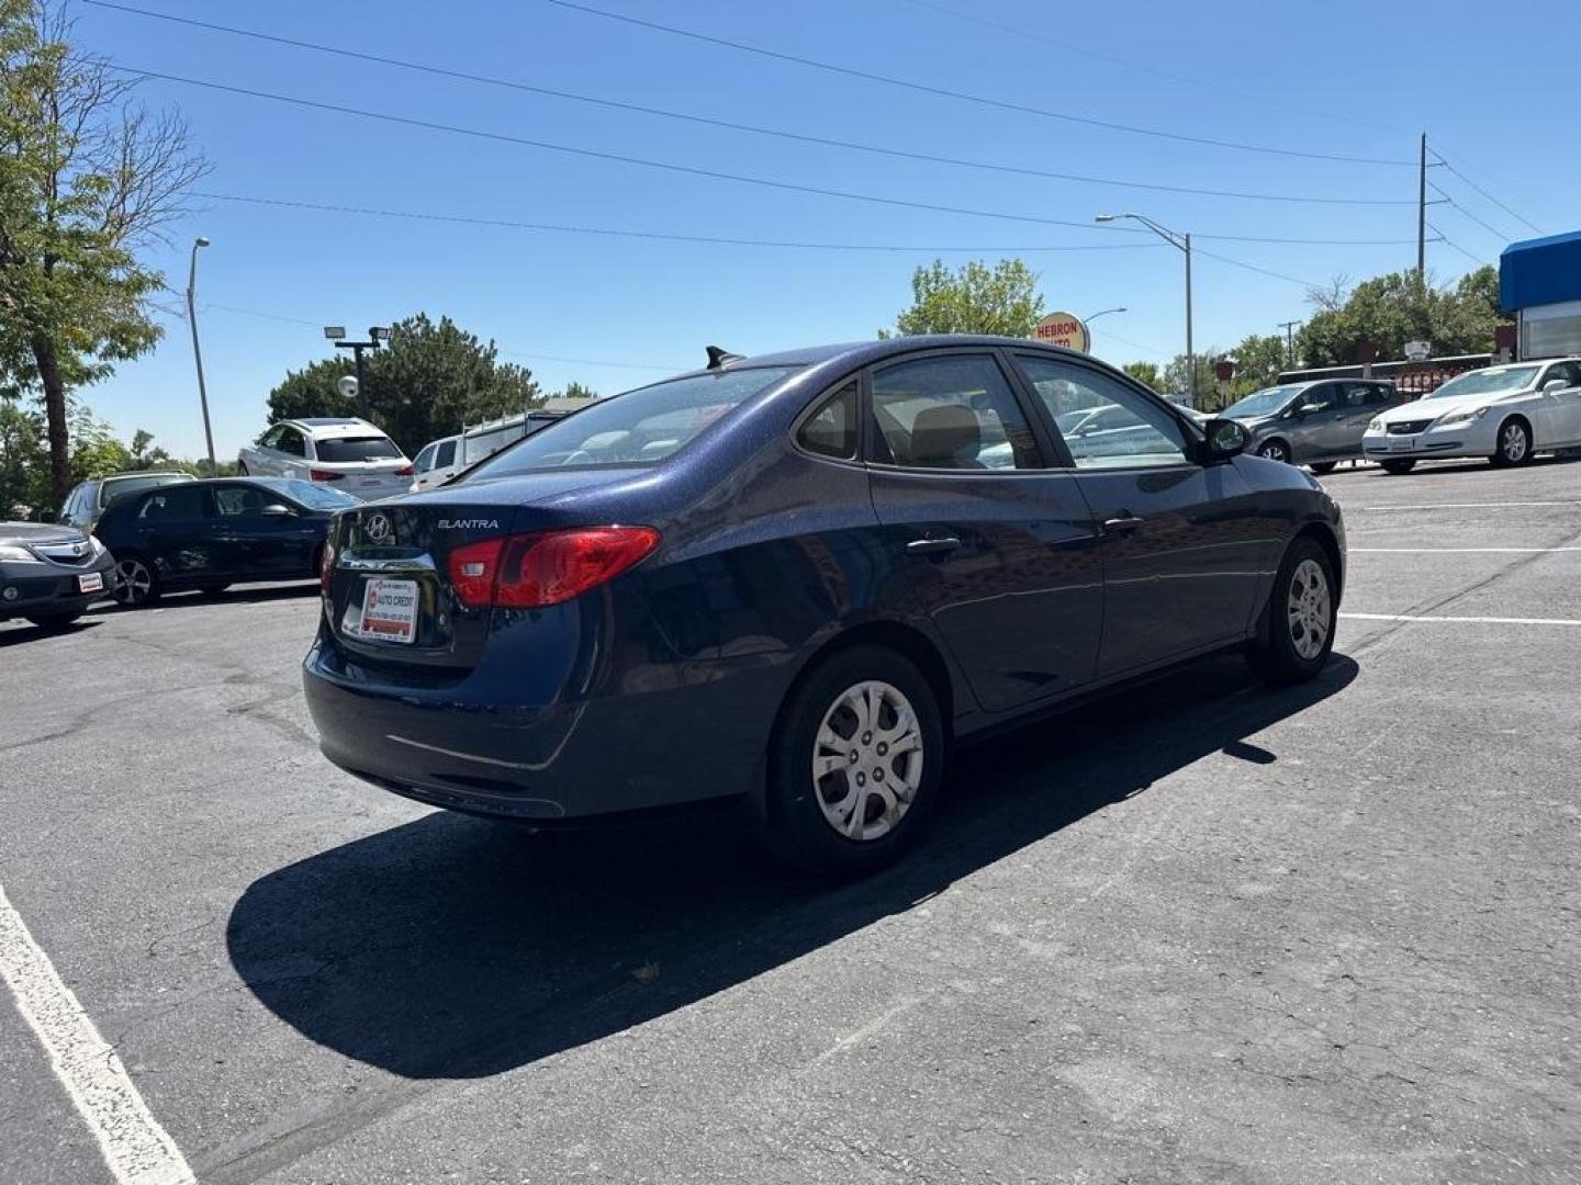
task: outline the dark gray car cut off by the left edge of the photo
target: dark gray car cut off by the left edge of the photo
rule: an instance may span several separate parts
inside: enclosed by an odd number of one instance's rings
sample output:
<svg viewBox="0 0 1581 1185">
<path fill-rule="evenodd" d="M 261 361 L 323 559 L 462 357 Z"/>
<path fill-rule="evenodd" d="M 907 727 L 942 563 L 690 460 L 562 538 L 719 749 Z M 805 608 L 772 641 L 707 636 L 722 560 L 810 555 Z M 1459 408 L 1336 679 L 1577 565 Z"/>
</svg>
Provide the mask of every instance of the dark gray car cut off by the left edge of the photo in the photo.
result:
<svg viewBox="0 0 1581 1185">
<path fill-rule="evenodd" d="M 0 621 L 65 626 L 115 586 L 115 558 L 58 523 L 0 523 Z"/>
</svg>

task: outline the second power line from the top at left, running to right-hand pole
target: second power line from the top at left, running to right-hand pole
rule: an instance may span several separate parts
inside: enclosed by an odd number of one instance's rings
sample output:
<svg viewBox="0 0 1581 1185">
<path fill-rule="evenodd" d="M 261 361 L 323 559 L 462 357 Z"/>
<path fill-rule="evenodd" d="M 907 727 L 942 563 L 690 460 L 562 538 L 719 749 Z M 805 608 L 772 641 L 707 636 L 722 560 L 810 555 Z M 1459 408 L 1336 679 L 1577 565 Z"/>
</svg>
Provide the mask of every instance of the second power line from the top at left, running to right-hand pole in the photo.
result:
<svg viewBox="0 0 1581 1185">
<path fill-rule="evenodd" d="M 550 3 L 560 3 L 560 0 L 550 0 Z M 555 144 L 553 141 L 539 141 L 526 136 L 511 136 L 503 131 L 484 131 L 481 128 L 465 128 L 457 123 L 440 123 L 435 120 L 422 120 L 411 115 L 392 115 L 381 111 L 367 111 L 364 107 L 348 107 L 338 103 L 319 103 L 316 100 L 305 100 L 296 95 L 278 95 L 267 90 L 253 90 L 248 87 L 232 87 L 225 82 L 209 82 L 204 79 L 191 79 L 180 74 L 164 74 L 153 70 L 142 70 L 138 66 L 115 66 L 115 70 L 128 74 L 136 74 L 139 77 L 161 79 L 164 82 L 179 82 L 188 87 L 202 87 L 206 90 L 220 90 L 229 95 L 247 95 L 250 98 L 269 100 L 272 103 L 288 103 L 297 107 L 308 107 L 313 111 L 330 111 L 338 115 L 356 115 L 359 118 L 378 120 L 383 123 L 395 123 L 406 128 L 424 128 L 427 131 L 443 131 L 452 136 L 468 136 L 473 139 L 493 141 L 496 144 L 515 144 L 528 149 L 544 149 L 547 152 L 561 152 L 572 156 L 585 156 L 590 160 L 613 161 L 617 164 L 636 164 L 645 169 L 661 169 L 666 172 L 678 172 L 689 177 L 708 177 L 711 180 L 735 182 L 738 185 L 756 185 L 767 190 L 784 190 L 787 193 L 805 193 L 816 194 L 821 198 L 840 198 L 854 202 L 868 202 L 873 205 L 889 205 L 907 210 L 928 210 L 930 213 L 958 213 L 971 218 L 996 218 L 1001 221 L 1013 223 L 1032 223 L 1037 226 L 1070 226 L 1081 231 L 1110 231 L 1116 234 L 1146 234 L 1146 231 L 1132 231 L 1130 228 L 1113 228 L 1113 226 L 1094 226 L 1091 221 L 1077 221 L 1072 218 L 1045 218 L 1042 215 L 1031 213 L 1010 213 L 1007 210 L 977 210 L 963 205 L 944 205 L 938 202 L 919 202 L 904 198 L 884 198 L 870 193 L 854 193 L 851 190 L 828 190 L 817 185 L 798 185 L 795 182 L 778 182 L 768 177 L 751 177 L 740 172 L 723 172 L 718 169 L 704 169 L 694 164 L 677 164 L 675 161 L 656 161 L 645 156 L 629 156 L 617 152 L 599 152 L 596 149 L 579 149 L 571 144 Z M 1225 234 L 1203 234 L 1197 235 L 1200 239 L 1214 239 L 1219 242 L 1244 242 L 1241 235 L 1225 235 Z M 1394 246 L 1406 240 L 1401 239 L 1252 239 L 1251 242 L 1270 243 L 1270 242 L 1285 242 L 1285 243 L 1303 243 L 1303 245 L 1326 245 L 1326 246 Z"/>
</svg>

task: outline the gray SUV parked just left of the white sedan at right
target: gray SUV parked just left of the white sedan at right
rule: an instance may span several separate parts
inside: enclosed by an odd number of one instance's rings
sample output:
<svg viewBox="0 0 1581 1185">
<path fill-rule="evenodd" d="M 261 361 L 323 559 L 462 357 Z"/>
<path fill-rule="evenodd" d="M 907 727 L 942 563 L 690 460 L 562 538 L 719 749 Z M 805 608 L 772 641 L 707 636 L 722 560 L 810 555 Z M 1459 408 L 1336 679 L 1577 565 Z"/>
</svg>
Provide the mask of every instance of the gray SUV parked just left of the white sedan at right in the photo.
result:
<svg viewBox="0 0 1581 1185">
<path fill-rule="evenodd" d="M 1339 461 L 1360 460 L 1372 417 L 1404 401 L 1393 382 L 1319 379 L 1254 390 L 1219 414 L 1252 433 L 1247 452 L 1328 472 Z"/>
</svg>

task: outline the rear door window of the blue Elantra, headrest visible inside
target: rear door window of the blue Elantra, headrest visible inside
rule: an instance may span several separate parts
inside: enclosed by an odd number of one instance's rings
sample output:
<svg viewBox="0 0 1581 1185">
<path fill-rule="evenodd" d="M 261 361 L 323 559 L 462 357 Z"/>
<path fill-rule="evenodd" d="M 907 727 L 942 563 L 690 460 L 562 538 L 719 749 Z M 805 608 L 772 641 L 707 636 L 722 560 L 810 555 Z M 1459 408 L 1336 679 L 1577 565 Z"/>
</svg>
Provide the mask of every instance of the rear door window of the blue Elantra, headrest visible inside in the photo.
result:
<svg viewBox="0 0 1581 1185">
<path fill-rule="evenodd" d="M 1042 458 L 999 363 L 987 354 L 873 371 L 874 457 L 915 469 L 1037 469 Z"/>
</svg>

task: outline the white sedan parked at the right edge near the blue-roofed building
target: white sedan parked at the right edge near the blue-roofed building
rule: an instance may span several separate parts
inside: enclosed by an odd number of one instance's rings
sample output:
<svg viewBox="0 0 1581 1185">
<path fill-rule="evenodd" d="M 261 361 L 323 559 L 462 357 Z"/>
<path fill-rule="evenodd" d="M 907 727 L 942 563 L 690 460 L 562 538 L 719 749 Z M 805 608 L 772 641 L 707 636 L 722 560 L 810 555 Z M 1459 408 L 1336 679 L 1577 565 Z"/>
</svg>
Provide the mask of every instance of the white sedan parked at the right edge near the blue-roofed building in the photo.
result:
<svg viewBox="0 0 1581 1185">
<path fill-rule="evenodd" d="M 1524 465 L 1581 446 L 1581 359 L 1538 359 L 1458 374 L 1431 395 L 1375 417 L 1361 438 L 1369 461 L 1409 472 L 1417 461 L 1486 457 Z"/>
</svg>

